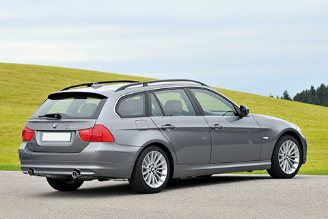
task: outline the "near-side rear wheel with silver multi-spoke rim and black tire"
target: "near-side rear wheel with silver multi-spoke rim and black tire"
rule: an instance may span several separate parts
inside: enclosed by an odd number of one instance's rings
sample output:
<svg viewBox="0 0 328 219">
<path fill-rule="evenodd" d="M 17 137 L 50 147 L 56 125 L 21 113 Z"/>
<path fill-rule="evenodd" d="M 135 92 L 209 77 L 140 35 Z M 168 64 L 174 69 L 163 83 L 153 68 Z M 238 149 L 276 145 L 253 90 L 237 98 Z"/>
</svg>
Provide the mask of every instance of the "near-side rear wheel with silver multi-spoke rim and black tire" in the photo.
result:
<svg viewBox="0 0 328 219">
<path fill-rule="evenodd" d="M 139 193 L 157 193 L 167 185 L 169 174 L 169 159 L 166 153 L 159 146 L 148 146 L 138 156 L 128 182 L 133 190 Z"/>
</svg>

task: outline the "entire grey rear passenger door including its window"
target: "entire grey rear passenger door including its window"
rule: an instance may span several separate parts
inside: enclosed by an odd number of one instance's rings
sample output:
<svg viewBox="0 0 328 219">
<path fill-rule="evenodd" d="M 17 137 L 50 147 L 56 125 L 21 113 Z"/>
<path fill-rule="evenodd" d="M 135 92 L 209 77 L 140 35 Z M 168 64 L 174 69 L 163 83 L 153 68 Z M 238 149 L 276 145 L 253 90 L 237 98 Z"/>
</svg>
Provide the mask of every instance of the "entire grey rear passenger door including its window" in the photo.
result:
<svg viewBox="0 0 328 219">
<path fill-rule="evenodd" d="M 208 164 L 209 127 L 203 116 L 196 116 L 186 92 L 181 88 L 156 90 L 150 101 L 151 118 L 172 144 L 178 164 Z"/>
</svg>

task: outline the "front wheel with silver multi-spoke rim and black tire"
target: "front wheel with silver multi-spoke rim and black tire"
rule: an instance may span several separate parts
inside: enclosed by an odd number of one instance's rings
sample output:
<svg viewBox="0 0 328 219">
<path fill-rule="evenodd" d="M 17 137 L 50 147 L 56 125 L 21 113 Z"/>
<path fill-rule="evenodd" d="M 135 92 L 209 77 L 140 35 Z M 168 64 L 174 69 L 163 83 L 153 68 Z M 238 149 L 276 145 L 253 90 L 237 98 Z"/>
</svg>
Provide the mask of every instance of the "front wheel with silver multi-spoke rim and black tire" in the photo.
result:
<svg viewBox="0 0 328 219">
<path fill-rule="evenodd" d="M 275 144 L 271 168 L 267 172 L 275 179 L 295 177 L 301 167 L 301 157 L 299 142 L 292 136 L 282 136 Z"/>
</svg>

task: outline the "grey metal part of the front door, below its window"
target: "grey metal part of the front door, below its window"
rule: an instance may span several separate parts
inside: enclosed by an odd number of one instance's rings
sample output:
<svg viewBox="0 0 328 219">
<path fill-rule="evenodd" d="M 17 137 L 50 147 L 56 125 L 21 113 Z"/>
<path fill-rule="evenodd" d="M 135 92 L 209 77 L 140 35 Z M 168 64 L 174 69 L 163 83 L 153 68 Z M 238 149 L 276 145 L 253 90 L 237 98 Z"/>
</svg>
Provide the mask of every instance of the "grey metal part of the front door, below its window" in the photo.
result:
<svg viewBox="0 0 328 219">
<path fill-rule="evenodd" d="M 260 159 L 261 132 L 250 117 L 206 116 L 212 138 L 210 163 L 247 162 Z"/>
</svg>

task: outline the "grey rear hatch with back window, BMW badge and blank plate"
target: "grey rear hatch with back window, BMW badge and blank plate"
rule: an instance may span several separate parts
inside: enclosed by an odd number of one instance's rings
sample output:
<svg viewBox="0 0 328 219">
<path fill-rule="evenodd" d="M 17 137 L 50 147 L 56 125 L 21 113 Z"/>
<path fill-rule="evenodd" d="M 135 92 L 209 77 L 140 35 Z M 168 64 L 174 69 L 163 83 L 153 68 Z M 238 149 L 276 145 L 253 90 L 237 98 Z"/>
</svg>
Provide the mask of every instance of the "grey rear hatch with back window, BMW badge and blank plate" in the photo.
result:
<svg viewBox="0 0 328 219">
<path fill-rule="evenodd" d="M 94 127 L 106 99 L 106 96 L 86 92 L 50 94 L 23 130 L 23 133 L 31 133 L 27 146 L 36 152 L 83 151 L 90 141 L 82 140 L 81 135 Z"/>
</svg>

